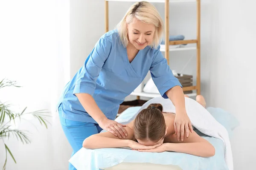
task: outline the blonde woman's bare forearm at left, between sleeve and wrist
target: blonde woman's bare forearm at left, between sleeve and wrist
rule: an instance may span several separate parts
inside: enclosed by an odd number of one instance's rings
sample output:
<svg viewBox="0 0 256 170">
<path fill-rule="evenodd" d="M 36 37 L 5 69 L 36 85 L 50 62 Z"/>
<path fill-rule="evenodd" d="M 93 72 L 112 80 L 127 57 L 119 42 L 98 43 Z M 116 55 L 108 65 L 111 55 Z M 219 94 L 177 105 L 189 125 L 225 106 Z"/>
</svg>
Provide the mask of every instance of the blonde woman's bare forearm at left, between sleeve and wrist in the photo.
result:
<svg viewBox="0 0 256 170">
<path fill-rule="evenodd" d="M 79 99 L 79 102 L 84 107 L 86 112 L 92 116 L 92 118 L 97 122 L 102 122 L 103 120 L 107 119 L 105 114 L 100 110 L 99 106 L 96 104 L 95 100 L 93 99 L 93 96 L 90 94 L 76 94 L 77 98 Z"/>
</svg>

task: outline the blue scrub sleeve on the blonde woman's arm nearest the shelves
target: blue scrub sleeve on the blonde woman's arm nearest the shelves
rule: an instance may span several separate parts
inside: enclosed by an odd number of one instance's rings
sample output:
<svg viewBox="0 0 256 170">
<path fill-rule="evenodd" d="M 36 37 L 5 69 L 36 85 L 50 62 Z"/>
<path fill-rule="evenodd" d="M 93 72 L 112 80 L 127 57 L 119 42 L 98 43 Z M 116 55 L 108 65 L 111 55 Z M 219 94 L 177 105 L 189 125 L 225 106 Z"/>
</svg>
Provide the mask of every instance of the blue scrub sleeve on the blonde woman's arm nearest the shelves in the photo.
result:
<svg viewBox="0 0 256 170">
<path fill-rule="evenodd" d="M 166 58 L 159 49 L 154 51 L 153 62 L 150 67 L 151 77 L 154 84 L 157 86 L 161 96 L 165 99 L 168 98 L 166 91 L 174 86 L 180 86 L 179 80 L 172 74 Z"/>
</svg>

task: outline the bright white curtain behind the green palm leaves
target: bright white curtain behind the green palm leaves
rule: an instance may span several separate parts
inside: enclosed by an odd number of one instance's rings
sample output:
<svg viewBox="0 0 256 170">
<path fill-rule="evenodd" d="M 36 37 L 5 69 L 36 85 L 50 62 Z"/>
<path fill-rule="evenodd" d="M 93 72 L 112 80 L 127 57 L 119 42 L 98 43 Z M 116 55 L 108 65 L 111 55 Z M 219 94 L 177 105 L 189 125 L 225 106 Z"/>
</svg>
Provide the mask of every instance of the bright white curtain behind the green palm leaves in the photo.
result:
<svg viewBox="0 0 256 170">
<path fill-rule="evenodd" d="M 31 144 L 11 138 L 7 170 L 65 170 L 72 149 L 61 129 L 55 106 L 70 79 L 69 0 L 0 0 L 0 79 L 17 81 L 21 88 L 3 88 L 0 101 L 14 111 L 47 109 L 46 130 L 26 117 L 14 127 L 29 130 Z M 0 141 L 0 168 L 5 160 Z"/>
</svg>

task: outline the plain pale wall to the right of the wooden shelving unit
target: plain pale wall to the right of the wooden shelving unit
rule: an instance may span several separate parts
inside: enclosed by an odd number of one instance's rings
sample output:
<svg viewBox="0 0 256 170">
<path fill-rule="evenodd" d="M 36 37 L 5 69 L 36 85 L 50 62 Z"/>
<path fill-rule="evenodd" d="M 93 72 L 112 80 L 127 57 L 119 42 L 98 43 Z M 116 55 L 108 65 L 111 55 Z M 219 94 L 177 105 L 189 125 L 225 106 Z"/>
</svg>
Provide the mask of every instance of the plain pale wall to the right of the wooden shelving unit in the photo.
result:
<svg viewBox="0 0 256 170">
<path fill-rule="evenodd" d="M 210 104 L 241 125 L 231 140 L 235 170 L 255 169 L 255 1 L 214 1 L 209 45 Z"/>
</svg>

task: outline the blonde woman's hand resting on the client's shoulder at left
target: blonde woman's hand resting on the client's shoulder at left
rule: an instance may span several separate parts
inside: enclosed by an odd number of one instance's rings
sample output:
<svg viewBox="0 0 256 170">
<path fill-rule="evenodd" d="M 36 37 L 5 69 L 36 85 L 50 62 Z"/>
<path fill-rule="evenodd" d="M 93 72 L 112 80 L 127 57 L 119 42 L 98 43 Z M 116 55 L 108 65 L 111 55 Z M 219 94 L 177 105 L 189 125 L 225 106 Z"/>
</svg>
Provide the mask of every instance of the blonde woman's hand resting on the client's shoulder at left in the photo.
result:
<svg viewBox="0 0 256 170">
<path fill-rule="evenodd" d="M 109 131 L 115 136 L 118 136 L 119 139 L 125 139 L 125 136 L 127 136 L 127 131 L 125 130 L 125 125 L 122 125 L 121 123 L 118 123 L 114 120 L 105 119 L 102 122 L 99 122 L 99 126 Z"/>
</svg>

